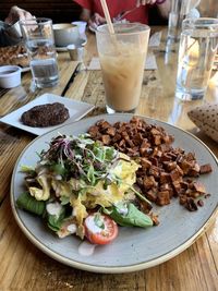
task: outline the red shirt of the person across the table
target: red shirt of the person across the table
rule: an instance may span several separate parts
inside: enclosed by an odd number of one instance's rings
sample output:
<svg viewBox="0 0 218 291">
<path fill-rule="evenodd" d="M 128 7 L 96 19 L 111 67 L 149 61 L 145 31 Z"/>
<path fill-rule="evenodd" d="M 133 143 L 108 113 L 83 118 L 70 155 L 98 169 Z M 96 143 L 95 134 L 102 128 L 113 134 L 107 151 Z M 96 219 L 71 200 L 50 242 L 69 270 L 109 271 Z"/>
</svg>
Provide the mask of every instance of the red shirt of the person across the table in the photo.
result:
<svg viewBox="0 0 218 291">
<path fill-rule="evenodd" d="M 111 19 L 118 16 L 119 13 L 135 8 L 135 0 L 106 0 Z M 74 0 L 82 8 L 88 9 L 92 13 L 98 13 L 105 17 L 104 11 L 100 4 L 100 0 Z M 133 12 L 124 16 L 130 22 L 148 23 L 148 5 L 141 5 Z"/>
</svg>

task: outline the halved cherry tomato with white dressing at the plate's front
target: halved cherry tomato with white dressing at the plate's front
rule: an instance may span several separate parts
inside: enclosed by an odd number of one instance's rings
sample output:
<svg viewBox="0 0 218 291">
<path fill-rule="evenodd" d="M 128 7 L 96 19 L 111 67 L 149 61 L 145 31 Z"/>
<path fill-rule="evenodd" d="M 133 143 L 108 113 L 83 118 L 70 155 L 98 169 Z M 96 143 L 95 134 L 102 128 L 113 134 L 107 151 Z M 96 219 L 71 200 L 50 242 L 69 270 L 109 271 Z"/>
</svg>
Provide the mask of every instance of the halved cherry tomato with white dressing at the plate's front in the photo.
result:
<svg viewBox="0 0 218 291">
<path fill-rule="evenodd" d="M 107 215 L 94 213 L 84 221 L 85 237 L 94 244 L 108 244 L 118 235 L 117 223 Z"/>
</svg>

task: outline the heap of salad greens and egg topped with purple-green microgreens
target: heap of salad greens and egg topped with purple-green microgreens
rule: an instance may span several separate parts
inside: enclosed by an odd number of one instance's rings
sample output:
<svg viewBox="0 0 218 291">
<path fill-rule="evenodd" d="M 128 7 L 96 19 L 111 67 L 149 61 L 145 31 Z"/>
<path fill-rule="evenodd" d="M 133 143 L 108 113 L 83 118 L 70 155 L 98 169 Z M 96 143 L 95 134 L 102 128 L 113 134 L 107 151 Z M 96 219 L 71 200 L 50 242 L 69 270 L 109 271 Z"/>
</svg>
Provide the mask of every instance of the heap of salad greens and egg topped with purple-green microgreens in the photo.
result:
<svg viewBox="0 0 218 291">
<path fill-rule="evenodd" d="M 22 166 L 27 192 L 16 204 L 41 216 L 59 237 L 84 238 L 84 220 L 96 211 L 95 225 L 104 229 L 100 211 L 120 226 L 150 227 L 153 220 L 132 202 L 143 199 L 134 189 L 140 166 L 113 147 L 80 136 L 59 135 L 39 154 L 35 168 Z M 129 198 L 131 196 L 131 198 Z M 150 203 L 149 203 L 150 204 Z M 98 215 L 99 213 L 99 215 Z"/>
</svg>

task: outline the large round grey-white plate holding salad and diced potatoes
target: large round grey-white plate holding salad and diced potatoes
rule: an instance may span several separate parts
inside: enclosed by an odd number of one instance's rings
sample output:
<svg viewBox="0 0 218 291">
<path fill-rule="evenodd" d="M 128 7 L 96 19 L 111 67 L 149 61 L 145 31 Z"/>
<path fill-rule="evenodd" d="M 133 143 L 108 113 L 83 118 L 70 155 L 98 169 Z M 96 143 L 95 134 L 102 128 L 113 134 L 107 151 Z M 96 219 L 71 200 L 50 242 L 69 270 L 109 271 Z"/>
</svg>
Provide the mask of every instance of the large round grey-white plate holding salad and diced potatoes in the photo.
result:
<svg viewBox="0 0 218 291">
<path fill-rule="evenodd" d="M 105 114 L 81 120 L 78 122 L 59 128 L 62 134 L 84 133 L 99 119 L 109 122 L 129 121 L 131 114 Z M 24 174 L 20 172 L 22 165 L 35 166 L 36 153 L 48 147 L 48 142 L 57 136 L 57 130 L 49 132 L 33 141 L 21 154 L 13 171 L 11 182 L 11 205 L 25 235 L 43 252 L 52 258 L 84 270 L 95 272 L 128 272 L 145 269 L 161 264 L 189 247 L 205 230 L 208 221 L 215 216 L 218 195 L 218 161 L 211 151 L 198 138 L 167 123 L 145 119 L 149 123 L 157 123 L 175 137 L 174 146 L 186 151 L 196 153 L 199 165 L 209 162 L 213 172 L 201 175 L 202 181 L 211 196 L 204 199 L 204 207 L 190 213 L 177 199 L 164 207 L 154 207 L 159 215 L 160 225 L 148 229 L 120 228 L 118 238 L 109 245 L 97 246 L 92 256 L 78 254 L 80 239 L 55 237 L 43 223 L 28 213 L 17 209 L 15 201 L 25 190 Z"/>
</svg>

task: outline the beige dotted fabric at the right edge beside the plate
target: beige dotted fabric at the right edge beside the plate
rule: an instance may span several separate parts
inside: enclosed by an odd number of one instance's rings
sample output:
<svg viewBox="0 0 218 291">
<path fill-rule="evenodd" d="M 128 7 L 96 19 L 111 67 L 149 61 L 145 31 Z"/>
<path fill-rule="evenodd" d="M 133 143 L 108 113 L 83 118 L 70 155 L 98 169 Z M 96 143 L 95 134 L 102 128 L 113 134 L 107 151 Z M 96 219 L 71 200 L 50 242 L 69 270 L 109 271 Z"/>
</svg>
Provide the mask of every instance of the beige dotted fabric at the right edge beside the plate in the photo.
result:
<svg viewBox="0 0 218 291">
<path fill-rule="evenodd" d="M 189 118 L 205 134 L 218 142 L 218 104 L 198 106 L 187 112 Z"/>
</svg>

